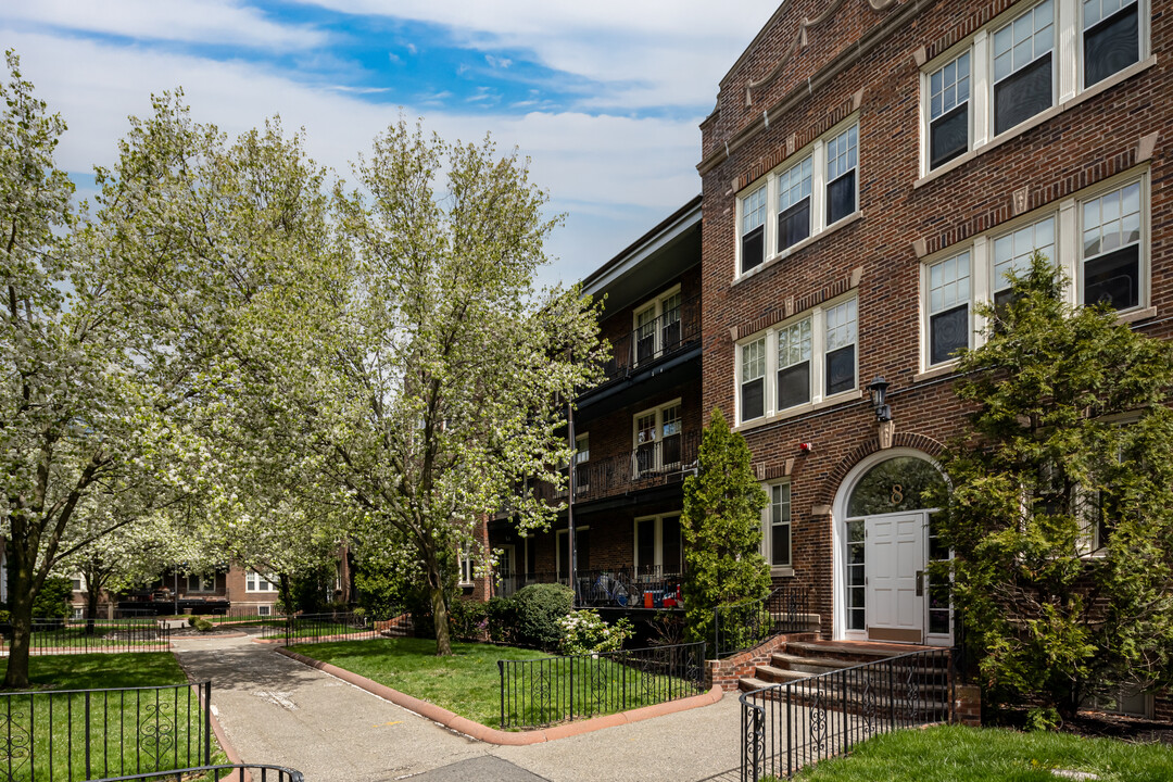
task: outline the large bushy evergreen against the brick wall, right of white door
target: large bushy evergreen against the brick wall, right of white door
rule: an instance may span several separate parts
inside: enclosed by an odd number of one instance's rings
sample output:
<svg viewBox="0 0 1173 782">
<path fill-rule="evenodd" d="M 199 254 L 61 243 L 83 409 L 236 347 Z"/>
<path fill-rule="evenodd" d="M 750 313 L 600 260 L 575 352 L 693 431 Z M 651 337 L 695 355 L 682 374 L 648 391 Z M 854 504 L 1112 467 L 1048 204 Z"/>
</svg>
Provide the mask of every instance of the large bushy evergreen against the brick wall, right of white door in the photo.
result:
<svg viewBox="0 0 1173 782">
<path fill-rule="evenodd" d="M 940 521 L 989 698 L 1053 722 L 1173 671 L 1173 347 L 1066 304 L 1038 253 L 1012 285 L 961 358 Z"/>
</svg>

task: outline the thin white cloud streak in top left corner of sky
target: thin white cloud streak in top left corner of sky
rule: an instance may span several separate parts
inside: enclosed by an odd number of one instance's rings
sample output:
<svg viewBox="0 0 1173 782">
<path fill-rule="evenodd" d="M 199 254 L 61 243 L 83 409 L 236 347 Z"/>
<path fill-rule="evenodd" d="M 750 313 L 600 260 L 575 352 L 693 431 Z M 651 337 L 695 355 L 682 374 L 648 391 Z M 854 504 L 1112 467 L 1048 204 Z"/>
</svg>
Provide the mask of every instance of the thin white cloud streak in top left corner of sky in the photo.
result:
<svg viewBox="0 0 1173 782">
<path fill-rule="evenodd" d="M 303 49 L 326 36 L 279 25 L 236 0 L 35 0 L 6 5 L 12 21 L 156 41 Z"/>
</svg>

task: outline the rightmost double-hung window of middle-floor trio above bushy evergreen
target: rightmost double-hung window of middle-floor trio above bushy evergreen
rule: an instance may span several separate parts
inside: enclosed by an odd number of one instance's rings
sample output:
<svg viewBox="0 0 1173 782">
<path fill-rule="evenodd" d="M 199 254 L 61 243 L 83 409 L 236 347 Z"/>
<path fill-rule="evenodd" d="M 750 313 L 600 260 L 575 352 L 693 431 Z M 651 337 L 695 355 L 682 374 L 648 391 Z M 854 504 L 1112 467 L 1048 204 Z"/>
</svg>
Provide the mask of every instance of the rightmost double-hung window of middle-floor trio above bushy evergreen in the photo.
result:
<svg viewBox="0 0 1173 782">
<path fill-rule="evenodd" d="M 1084 304 L 1140 304 L 1140 182 L 1083 202 Z"/>
</svg>

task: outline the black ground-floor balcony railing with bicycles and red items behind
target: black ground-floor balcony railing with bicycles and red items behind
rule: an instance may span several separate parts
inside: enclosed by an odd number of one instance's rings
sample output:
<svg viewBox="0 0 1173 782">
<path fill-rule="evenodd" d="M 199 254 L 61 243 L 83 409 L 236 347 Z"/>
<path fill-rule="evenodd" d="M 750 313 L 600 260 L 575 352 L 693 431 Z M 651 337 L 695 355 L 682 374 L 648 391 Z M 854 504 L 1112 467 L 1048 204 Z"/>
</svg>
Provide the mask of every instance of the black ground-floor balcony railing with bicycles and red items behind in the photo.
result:
<svg viewBox="0 0 1173 782">
<path fill-rule="evenodd" d="M 579 570 L 577 605 L 585 608 L 683 608 L 680 584 L 684 576 L 659 566 Z M 497 594 L 510 597 L 530 584 L 564 584 L 565 572 L 538 572 L 499 576 Z"/>
</svg>

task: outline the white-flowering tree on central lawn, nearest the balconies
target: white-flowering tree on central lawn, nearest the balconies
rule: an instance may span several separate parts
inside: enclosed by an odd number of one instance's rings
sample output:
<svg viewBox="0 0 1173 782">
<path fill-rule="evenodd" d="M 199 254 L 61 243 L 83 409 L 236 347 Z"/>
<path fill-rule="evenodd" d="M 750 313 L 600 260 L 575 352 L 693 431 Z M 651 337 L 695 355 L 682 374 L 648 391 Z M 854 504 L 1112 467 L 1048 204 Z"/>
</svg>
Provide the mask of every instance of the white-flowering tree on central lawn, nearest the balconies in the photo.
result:
<svg viewBox="0 0 1173 782">
<path fill-rule="evenodd" d="M 564 480 L 560 400 L 597 375 L 597 318 L 577 291 L 534 288 L 552 222 L 516 155 L 401 121 L 357 175 L 338 196 L 337 256 L 273 301 L 267 428 L 296 433 L 306 485 L 418 573 L 449 654 L 448 592 L 474 526 L 503 508 L 522 526 L 552 512 L 524 481 Z"/>
</svg>

